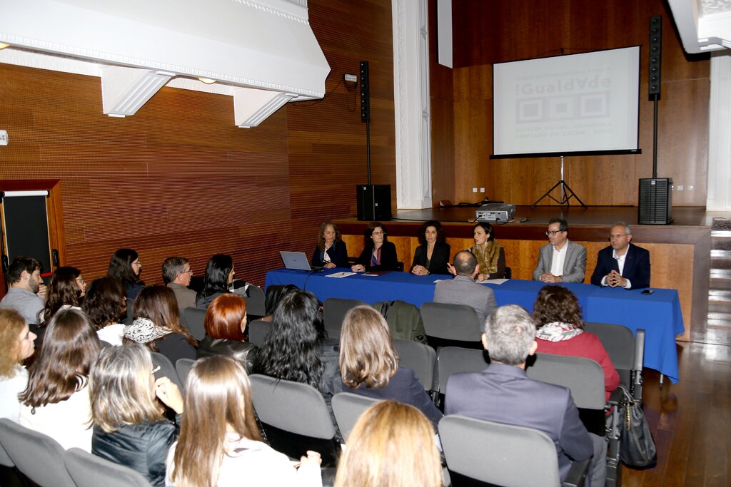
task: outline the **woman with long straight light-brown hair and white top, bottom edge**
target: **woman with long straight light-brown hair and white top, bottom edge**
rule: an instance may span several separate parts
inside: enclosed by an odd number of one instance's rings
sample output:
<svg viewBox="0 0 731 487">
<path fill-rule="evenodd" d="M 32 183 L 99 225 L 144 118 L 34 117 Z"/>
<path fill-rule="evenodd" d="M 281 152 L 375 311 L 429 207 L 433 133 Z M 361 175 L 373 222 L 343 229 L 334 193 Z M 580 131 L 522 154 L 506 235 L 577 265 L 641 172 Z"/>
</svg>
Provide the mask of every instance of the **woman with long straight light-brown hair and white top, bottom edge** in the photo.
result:
<svg viewBox="0 0 731 487">
<path fill-rule="evenodd" d="M 322 486 L 318 453 L 308 451 L 297 469 L 263 442 L 240 362 L 196 361 L 184 410 L 180 438 L 167 455 L 167 486 Z"/>
</svg>

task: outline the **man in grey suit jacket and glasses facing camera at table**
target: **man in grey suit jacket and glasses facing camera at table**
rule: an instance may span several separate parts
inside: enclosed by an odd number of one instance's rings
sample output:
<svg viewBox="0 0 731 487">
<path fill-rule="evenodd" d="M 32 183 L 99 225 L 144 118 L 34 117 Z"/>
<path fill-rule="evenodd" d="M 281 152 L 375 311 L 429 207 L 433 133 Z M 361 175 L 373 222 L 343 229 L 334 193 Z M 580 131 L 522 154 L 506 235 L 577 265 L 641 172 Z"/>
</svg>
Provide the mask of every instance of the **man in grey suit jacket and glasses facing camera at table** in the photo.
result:
<svg viewBox="0 0 731 487">
<path fill-rule="evenodd" d="M 583 283 L 586 272 L 586 248 L 567 238 L 569 224 L 563 218 L 548 222 L 548 244 L 538 253 L 533 280 L 542 283 Z"/>
</svg>

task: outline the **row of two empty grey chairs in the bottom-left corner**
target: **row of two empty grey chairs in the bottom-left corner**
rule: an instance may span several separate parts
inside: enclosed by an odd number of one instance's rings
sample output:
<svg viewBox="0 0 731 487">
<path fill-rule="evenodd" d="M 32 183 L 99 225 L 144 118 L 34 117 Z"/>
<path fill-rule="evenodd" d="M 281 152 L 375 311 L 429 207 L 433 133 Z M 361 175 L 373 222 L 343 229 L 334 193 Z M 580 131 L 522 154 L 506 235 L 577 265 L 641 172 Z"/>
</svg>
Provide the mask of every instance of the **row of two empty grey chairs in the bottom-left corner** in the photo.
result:
<svg viewBox="0 0 731 487">
<path fill-rule="evenodd" d="M 143 475 L 80 448 L 64 450 L 45 434 L 0 419 L 0 465 L 41 487 L 150 487 Z"/>
</svg>

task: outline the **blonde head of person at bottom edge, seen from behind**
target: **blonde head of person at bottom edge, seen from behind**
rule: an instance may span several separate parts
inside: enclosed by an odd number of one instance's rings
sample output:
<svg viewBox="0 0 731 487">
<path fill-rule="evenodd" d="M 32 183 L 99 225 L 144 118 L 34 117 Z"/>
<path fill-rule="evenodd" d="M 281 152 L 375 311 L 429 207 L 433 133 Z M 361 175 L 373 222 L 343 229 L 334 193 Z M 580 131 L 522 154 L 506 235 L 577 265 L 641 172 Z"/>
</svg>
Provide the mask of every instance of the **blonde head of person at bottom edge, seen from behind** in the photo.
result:
<svg viewBox="0 0 731 487">
<path fill-rule="evenodd" d="M 335 487 L 442 487 L 429 420 L 413 406 L 382 401 L 360 415 L 338 463 Z"/>
</svg>

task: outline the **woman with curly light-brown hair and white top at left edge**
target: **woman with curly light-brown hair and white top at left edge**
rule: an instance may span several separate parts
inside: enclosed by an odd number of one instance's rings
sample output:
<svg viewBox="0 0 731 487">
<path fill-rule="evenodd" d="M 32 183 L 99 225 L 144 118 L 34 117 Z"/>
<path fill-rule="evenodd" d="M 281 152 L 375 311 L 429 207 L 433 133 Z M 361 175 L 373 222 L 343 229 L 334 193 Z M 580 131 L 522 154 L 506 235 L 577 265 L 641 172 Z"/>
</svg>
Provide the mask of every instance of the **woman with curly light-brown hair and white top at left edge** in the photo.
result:
<svg viewBox="0 0 731 487">
<path fill-rule="evenodd" d="M 23 361 L 33 355 L 36 335 L 28 328 L 20 313 L 0 310 L 0 418 L 18 423 L 18 394 L 28 386 L 28 371 Z"/>
</svg>

